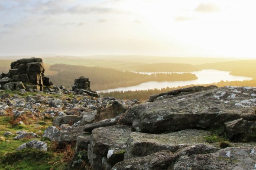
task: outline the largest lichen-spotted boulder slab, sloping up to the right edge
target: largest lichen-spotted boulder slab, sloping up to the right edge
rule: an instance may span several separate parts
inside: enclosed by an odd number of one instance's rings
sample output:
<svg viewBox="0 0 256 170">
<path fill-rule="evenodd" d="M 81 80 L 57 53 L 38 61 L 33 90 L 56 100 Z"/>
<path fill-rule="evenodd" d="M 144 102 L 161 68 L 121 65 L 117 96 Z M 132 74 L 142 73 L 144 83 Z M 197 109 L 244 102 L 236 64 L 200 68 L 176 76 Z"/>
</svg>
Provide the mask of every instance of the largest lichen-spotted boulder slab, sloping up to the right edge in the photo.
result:
<svg viewBox="0 0 256 170">
<path fill-rule="evenodd" d="M 243 118 L 256 120 L 256 88 L 226 86 L 140 104 L 125 119 L 138 132 L 162 133 L 208 128 Z"/>
</svg>

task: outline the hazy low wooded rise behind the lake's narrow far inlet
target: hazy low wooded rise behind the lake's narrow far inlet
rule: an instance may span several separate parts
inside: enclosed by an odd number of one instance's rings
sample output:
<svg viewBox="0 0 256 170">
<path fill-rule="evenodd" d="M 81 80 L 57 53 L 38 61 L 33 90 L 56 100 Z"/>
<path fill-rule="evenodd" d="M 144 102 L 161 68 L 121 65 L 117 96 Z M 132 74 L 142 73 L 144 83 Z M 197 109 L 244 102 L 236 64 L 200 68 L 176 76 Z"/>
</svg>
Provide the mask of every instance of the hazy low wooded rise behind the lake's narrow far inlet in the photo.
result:
<svg viewBox="0 0 256 170">
<path fill-rule="evenodd" d="M 194 72 L 199 69 L 191 64 L 156 63 L 139 66 L 137 72 Z"/>
</svg>

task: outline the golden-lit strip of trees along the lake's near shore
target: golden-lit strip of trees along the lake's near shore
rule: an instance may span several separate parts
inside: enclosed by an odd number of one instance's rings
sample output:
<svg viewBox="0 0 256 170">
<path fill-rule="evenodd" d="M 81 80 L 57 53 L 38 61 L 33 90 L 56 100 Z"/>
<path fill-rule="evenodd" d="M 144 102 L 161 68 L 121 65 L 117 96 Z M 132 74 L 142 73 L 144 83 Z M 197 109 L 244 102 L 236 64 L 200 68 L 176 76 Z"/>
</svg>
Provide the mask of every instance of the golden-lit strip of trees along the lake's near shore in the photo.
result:
<svg viewBox="0 0 256 170">
<path fill-rule="evenodd" d="M 201 86 L 209 86 L 209 85 L 216 85 L 218 87 L 224 87 L 227 85 L 230 86 L 249 86 L 249 87 L 256 87 L 256 80 L 244 80 L 244 81 L 231 81 L 231 82 L 224 82 L 220 81 L 217 83 L 211 83 L 211 84 L 203 84 Z M 198 86 L 198 85 L 186 85 L 186 86 L 178 86 L 174 88 L 161 88 L 161 89 L 149 89 L 149 90 L 136 90 L 136 91 L 110 91 L 110 92 L 100 92 L 99 94 L 102 96 L 113 96 L 115 98 L 122 98 L 122 99 L 139 99 L 142 101 L 146 101 L 149 99 L 149 97 L 152 94 L 159 94 L 164 93 L 166 91 L 171 91 L 179 88 L 187 88 L 192 86 Z"/>
</svg>

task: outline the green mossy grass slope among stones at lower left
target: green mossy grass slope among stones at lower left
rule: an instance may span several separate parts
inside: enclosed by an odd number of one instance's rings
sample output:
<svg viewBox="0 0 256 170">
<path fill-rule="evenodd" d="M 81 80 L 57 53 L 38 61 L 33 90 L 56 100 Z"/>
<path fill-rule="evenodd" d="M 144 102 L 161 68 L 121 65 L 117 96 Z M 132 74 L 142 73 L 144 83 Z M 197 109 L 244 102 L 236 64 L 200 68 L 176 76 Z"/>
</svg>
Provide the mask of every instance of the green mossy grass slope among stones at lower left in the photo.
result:
<svg viewBox="0 0 256 170">
<path fill-rule="evenodd" d="M 12 91 L 0 91 L 0 94 L 8 92 L 11 96 L 17 94 Z M 28 93 L 27 95 L 36 95 L 34 93 Z M 26 95 L 26 96 L 27 96 Z M 46 95 L 46 94 L 45 94 Z M 26 97 L 24 96 L 24 97 Z M 55 96 L 57 97 L 57 96 Z M 70 97 L 66 95 L 65 97 Z M 41 110 L 42 111 L 42 110 Z M 55 142 L 50 142 L 48 139 L 39 138 L 36 140 L 45 141 L 47 143 L 48 151 L 35 151 L 35 150 L 24 150 L 15 152 L 15 150 L 22 144 L 30 142 L 29 139 L 13 140 L 16 136 L 15 132 L 19 130 L 26 130 L 27 132 L 42 132 L 48 126 L 52 125 L 52 120 L 44 119 L 37 126 L 32 124 L 26 124 L 26 126 L 20 126 L 18 124 L 12 124 L 12 115 L 0 116 L 0 137 L 3 137 L 4 132 L 12 132 L 13 135 L 5 137 L 5 141 L 0 141 L 0 170 L 67 170 L 68 162 L 61 162 L 65 157 L 65 153 L 56 150 Z M 32 119 L 29 119 L 32 120 Z M 29 121 L 27 120 L 27 121 Z M 33 123 L 35 124 L 35 123 Z M 42 132 L 37 135 L 42 135 Z M 72 151 L 75 151 L 75 146 L 72 147 Z M 55 164 L 56 163 L 56 164 Z"/>
</svg>

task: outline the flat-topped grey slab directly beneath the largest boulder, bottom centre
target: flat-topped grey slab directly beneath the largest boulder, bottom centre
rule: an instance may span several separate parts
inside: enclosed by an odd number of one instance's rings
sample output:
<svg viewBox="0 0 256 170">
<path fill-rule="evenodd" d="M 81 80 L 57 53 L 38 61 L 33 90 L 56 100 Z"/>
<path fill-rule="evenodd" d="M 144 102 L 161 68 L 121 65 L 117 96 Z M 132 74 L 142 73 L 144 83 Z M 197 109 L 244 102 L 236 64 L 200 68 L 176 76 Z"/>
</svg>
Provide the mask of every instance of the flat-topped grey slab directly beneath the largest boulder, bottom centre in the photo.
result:
<svg viewBox="0 0 256 170">
<path fill-rule="evenodd" d="M 204 136 L 211 135 L 204 130 L 182 130 L 164 135 L 132 132 L 127 141 L 124 160 L 144 157 L 159 151 L 175 152 L 198 143 L 205 143 Z"/>
</svg>

